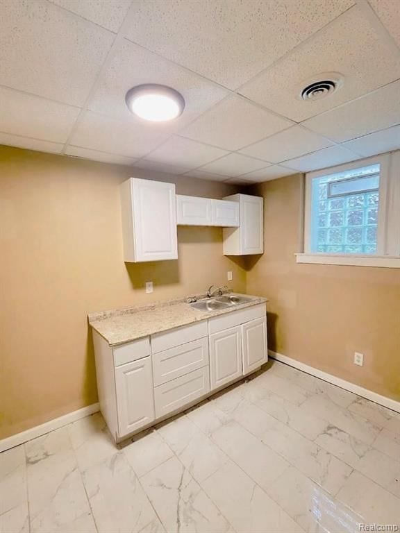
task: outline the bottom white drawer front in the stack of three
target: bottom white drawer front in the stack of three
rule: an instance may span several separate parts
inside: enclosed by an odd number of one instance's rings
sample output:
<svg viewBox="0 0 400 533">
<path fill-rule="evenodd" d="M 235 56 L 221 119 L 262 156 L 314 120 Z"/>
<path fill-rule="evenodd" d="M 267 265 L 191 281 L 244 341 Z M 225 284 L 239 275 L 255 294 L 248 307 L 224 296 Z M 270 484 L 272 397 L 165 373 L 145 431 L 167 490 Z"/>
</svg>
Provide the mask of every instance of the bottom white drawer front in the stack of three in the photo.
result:
<svg viewBox="0 0 400 533">
<path fill-rule="evenodd" d="M 154 389 L 156 418 L 176 411 L 210 391 L 208 366 L 159 385 Z"/>
</svg>

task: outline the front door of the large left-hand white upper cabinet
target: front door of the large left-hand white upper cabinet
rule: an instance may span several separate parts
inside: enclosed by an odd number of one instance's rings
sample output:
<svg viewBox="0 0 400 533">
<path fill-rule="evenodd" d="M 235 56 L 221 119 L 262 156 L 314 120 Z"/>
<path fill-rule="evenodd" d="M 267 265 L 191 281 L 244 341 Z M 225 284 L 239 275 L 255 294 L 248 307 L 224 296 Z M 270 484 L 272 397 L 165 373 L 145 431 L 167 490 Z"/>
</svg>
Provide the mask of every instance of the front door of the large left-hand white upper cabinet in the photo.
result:
<svg viewBox="0 0 400 533">
<path fill-rule="evenodd" d="M 177 259 L 175 185 L 131 180 L 135 262 Z"/>
</svg>

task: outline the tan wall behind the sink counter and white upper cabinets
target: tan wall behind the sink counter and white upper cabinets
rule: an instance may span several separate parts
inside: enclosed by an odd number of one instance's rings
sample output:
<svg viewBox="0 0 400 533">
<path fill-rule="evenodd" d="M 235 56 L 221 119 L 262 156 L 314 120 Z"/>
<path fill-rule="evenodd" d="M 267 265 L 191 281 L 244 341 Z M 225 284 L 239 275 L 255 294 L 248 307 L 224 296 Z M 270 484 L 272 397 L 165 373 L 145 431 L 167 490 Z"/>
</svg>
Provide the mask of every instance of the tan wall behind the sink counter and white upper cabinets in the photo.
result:
<svg viewBox="0 0 400 533">
<path fill-rule="evenodd" d="M 118 185 L 131 174 L 0 146 L 0 438 L 97 401 L 88 312 L 205 291 L 228 270 L 245 290 L 240 261 L 222 255 L 221 228 L 179 228 L 178 261 L 124 264 Z M 171 180 L 179 194 L 236 192 Z"/>
</svg>

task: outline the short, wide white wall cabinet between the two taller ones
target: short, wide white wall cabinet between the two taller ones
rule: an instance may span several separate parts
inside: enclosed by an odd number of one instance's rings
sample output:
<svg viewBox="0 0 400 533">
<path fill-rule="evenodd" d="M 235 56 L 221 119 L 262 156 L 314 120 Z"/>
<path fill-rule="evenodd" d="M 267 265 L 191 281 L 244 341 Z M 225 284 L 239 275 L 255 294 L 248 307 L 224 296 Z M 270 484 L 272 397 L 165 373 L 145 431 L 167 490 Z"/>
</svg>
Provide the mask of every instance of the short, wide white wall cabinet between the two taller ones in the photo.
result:
<svg viewBox="0 0 400 533">
<path fill-rule="evenodd" d="M 182 226 L 234 226 L 240 224 L 240 205 L 237 202 L 176 196 L 178 224 Z"/>
</svg>

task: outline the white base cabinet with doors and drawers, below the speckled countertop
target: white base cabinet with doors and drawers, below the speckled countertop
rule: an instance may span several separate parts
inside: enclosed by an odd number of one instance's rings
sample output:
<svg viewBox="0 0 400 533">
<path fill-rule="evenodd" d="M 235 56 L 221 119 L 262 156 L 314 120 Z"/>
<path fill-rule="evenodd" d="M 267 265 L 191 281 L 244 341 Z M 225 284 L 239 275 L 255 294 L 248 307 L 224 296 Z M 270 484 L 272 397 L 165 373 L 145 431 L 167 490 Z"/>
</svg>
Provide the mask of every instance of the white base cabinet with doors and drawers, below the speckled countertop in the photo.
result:
<svg viewBox="0 0 400 533">
<path fill-rule="evenodd" d="M 265 303 L 120 346 L 93 330 L 99 402 L 120 442 L 267 362 Z"/>
</svg>

